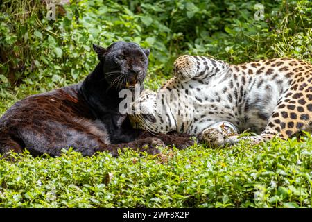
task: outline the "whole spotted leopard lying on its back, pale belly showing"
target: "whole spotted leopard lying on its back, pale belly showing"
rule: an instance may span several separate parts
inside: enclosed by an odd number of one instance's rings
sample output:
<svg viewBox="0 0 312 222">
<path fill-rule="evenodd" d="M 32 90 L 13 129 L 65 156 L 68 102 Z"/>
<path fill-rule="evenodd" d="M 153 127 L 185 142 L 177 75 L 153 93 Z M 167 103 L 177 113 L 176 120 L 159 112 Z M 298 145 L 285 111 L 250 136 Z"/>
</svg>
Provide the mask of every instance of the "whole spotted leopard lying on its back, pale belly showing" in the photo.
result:
<svg viewBox="0 0 312 222">
<path fill-rule="evenodd" d="M 214 146 L 250 139 L 287 139 L 311 132 L 312 65 L 275 58 L 230 65 L 204 56 L 180 56 L 173 78 L 132 104 L 132 125 L 155 133 L 176 130 Z M 168 96 L 169 95 L 169 96 Z M 160 112 L 159 112 L 160 111 Z M 250 130 L 257 135 L 240 137 Z"/>
</svg>

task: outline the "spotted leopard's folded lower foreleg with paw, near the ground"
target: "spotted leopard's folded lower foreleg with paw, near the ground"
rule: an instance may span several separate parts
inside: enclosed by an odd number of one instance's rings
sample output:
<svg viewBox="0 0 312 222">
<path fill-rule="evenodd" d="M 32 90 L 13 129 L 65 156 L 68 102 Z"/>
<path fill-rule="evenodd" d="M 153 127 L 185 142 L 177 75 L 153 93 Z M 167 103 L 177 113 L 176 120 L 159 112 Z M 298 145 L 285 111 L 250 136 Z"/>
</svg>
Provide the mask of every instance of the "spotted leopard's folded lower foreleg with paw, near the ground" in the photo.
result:
<svg viewBox="0 0 312 222">
<path fill-rule="evenodd" d="M 202 141 L 212 147 L 223 147 L 236 143 L 238 130 L 229 122 L 215 123 L 202 131 Z"/>
</svg>

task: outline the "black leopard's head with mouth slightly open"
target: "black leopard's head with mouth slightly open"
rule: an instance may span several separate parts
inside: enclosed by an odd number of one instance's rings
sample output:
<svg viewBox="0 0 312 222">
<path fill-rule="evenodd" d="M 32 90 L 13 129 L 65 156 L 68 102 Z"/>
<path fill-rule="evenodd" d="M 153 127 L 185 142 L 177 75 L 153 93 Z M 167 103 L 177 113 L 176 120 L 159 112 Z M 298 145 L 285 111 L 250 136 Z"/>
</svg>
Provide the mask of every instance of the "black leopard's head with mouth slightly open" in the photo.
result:
<svg viewBox="0 0 312 222">
<path fill-rule="evenodd" d="M 103 78 L 109 87 L 134 89 L 135 84 L 143 83 L 148 68 L 148 49 L 132 42 L 115 42 L 107 49 L 94 44 L 93 48 L 103 62 Z"/>
</svg>

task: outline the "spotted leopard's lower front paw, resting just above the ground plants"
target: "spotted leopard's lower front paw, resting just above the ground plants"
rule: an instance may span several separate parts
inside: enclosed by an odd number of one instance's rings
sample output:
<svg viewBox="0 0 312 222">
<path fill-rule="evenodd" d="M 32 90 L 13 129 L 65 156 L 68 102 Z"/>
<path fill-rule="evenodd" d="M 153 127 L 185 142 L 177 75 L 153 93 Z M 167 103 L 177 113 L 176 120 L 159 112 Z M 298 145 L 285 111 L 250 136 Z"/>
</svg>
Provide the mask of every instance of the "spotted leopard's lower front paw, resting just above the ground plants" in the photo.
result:
<svg viewBox="0 0 312 222">
<path fill-rule="evenodd" d="M 208 128 L 202 131 L 202 141 L 211 147 L 224 147 L 227 133 L 217 128 Z"/>
</svg>

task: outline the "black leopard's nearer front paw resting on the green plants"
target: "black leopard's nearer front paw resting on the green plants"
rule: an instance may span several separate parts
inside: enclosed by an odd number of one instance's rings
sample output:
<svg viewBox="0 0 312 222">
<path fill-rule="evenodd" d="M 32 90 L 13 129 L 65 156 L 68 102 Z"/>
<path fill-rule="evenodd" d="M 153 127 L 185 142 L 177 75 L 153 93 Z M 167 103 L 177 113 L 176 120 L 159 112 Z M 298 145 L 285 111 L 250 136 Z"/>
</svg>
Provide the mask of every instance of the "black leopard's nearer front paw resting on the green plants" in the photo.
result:
<svg viewBox="0 0 312 222">
<path fill-rule="evenodd" d="M 163 147 L 165 146 L 162 139 L 150 137 L 150 138 L 146 138 L 146 139 L 137 140 L 137 147 L 139 148 L 140 152 L 146 152 L 146 153 L 149 153 L 151 155 L 156 155 L 156 154 L 160 153 L 157 146 L 163 146 Z"/>
</svg>

